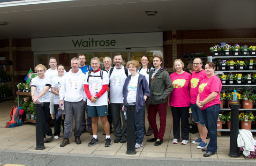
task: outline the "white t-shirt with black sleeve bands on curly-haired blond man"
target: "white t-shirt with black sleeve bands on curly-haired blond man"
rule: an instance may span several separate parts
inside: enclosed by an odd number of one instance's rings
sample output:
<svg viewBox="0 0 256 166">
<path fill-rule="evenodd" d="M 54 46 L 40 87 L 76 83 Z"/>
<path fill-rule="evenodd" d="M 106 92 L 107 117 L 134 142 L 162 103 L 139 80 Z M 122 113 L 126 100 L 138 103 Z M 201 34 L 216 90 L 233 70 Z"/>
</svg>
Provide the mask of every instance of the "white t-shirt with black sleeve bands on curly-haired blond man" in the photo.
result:
<svg viewBox="0 0 256 166">
<path fill-rule="evenodd" d="M 40 79 L 38 76 L 36 76 L 35 78 L 33 78 L 31 80 L 31 86 L 35 86 L 35 95 L 39 95 L 39 93 L 42 92 L 42 90 L 44 89 L 44 87 L 46 85 L 52 85 L 52 80 L 49 77 L 44 77 L 44 79 Z M 49 98 L 49 92 L 47 91 L 42 97 L 39 98 L 39 101 L 41 103 L 43 102 L 50 102 L 50 98 Z"/>
</svg>

